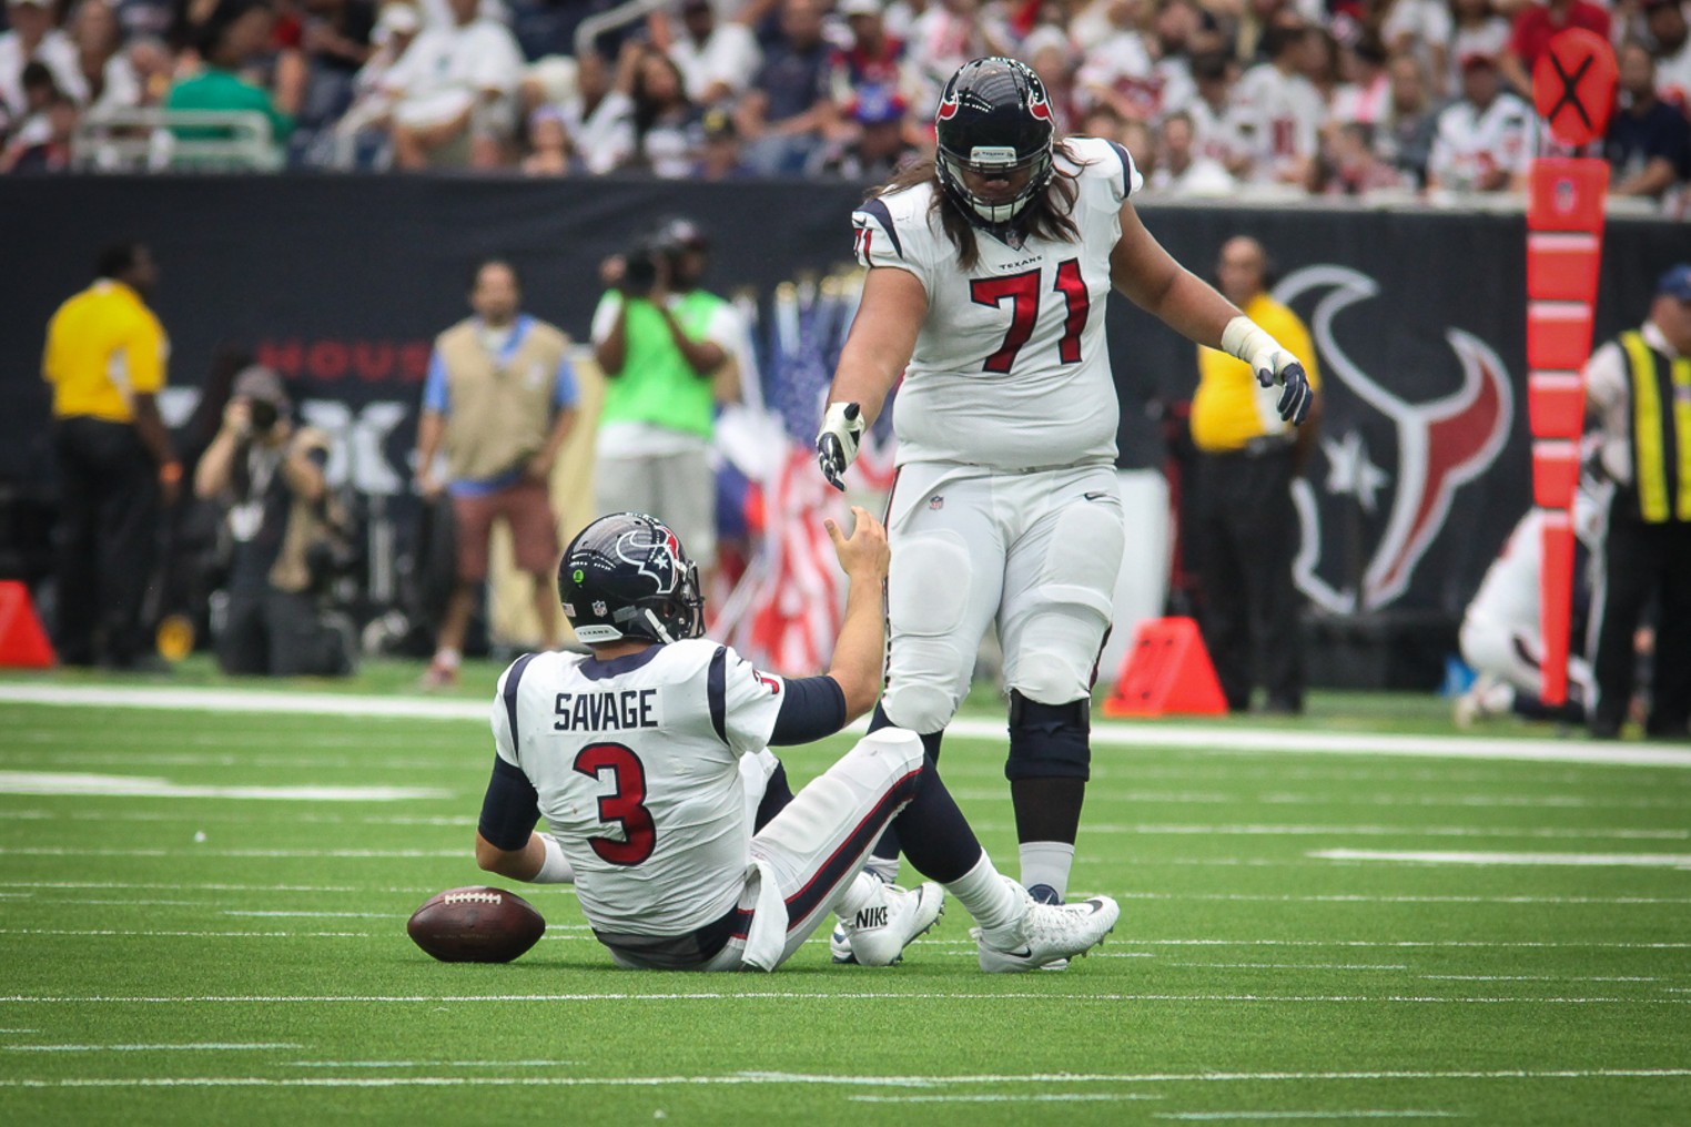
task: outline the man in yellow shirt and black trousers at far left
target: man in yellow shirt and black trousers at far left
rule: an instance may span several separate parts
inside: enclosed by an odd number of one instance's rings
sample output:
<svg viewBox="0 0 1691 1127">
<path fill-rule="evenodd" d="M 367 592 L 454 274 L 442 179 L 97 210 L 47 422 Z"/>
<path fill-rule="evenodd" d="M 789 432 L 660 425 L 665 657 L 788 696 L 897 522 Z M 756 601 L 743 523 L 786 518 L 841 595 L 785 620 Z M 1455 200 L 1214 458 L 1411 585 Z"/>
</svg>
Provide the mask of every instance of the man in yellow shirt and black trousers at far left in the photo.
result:
<svg viewBox="0 0 1691 1127">
<path fill-rule="evenodd" d="M 140 622 L 152 580 L 159 502 L 183 466 L 159 417 L 169 341 L 147 308 L 157 279 L 140 243 L 108 247 L 95 284 L 47 323 L 59 466 L 57 649 L 68 666 L 150 664 Z"/>
</svg>

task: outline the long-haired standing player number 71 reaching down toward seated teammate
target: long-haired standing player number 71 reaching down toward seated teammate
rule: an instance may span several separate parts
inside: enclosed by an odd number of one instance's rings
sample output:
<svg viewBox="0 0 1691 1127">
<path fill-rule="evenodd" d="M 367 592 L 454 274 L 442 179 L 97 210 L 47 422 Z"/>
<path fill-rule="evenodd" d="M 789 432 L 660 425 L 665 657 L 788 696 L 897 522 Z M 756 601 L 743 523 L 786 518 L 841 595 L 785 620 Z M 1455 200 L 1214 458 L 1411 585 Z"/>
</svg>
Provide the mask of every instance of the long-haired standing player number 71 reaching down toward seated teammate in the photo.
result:
<svg viewBox="0 0 1691 1127">
<path fill-rule="evenodd" d="M 1109 140 L 1057 140 L 1045 88 L 1013 59 L 966 63 L 935 113 L 939 155 L 854 215 L 867 267 L 817 455 L 834 485 L 903 373 L 888 681 L 871 732 L 940 735 L 998 623 L 1010 689 L 1004 774 L 1021 882 L 1060 902 L 1089 776 L 1089 701 L 1125 529 L 1116 385 L 1104 345 L 1114 287 L 1309 411 L 1290 351 L 1152 238 L 1140 176 Z M 896 826 L 903 833 L 903 826 Z M 871 867 L 896 875 L 889 835 Z M 835 958 L 851 953 L 835 945 Z"/>
</svg>

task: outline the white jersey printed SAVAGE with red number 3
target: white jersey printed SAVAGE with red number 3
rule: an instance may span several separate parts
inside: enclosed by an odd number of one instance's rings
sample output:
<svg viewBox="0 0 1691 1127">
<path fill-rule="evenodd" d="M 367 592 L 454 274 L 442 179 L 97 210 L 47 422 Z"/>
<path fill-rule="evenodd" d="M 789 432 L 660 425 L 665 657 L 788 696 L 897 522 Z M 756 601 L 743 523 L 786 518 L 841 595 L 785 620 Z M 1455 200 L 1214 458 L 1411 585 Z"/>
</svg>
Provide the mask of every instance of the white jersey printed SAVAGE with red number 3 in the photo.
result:
<svg viewBox="0 0 1691 1127">
<path fill-rule="evenodd" d="M 739 757 L 768 747 L 785 681 L 703 639 L 536 654 L 509 679 L 494 745 L 539 794 L 594 929 L 685 934 L 732 909 L 752 833 Z"/>
</svg>

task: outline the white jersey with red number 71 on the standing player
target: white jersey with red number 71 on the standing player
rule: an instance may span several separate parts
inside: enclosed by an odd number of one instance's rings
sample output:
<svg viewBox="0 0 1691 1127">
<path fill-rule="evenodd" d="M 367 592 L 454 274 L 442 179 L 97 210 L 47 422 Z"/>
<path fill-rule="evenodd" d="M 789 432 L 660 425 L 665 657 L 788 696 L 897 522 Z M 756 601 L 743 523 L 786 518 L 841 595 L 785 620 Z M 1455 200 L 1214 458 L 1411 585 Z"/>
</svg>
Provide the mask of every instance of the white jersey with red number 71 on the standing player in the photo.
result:
<svg viewBox="0 0 1691 1127">
<path fill-rule="evenodd" d="M 1057 167 L 1077 174 L 1070 218 L 1079 242 L 1030 238 L 1013 247 L 976 230 L 981 259 L 964 272 L 928 206 L 933 184 L 869 199 L 852 213 L 857 260 L 908 270 L 928 296 L 893 407 L 900 465 L 1114 463 L 1119 409 L 1104 302 L 1121 201 L 1140 176 L 1113 142 L 1075 137 L 1065 147 Z"/>
</svg>

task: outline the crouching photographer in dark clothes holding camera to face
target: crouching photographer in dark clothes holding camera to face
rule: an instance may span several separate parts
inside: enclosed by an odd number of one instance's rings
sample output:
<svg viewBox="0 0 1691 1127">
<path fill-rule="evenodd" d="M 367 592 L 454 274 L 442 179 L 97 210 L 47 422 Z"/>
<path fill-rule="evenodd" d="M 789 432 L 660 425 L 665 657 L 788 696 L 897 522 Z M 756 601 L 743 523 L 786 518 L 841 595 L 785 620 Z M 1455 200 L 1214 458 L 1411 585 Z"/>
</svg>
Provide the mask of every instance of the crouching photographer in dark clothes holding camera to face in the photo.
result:
<svg viewBox="0 0 1691 1127">
<path fill-rule="evenodd" d="M 223 426 L 194 468 L 194 495 L 223 510 L 230 541 L 216 637 L 223 672 L 352 672 L 352 623 L 320 607 L 345 534 L 325 465 L 328 438 L 294 427 L 282 377 L 260 367 L 237 375 Z"/>
</svg>

